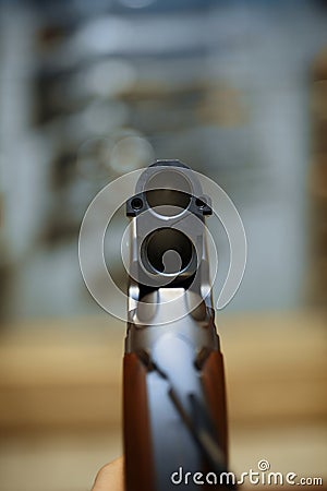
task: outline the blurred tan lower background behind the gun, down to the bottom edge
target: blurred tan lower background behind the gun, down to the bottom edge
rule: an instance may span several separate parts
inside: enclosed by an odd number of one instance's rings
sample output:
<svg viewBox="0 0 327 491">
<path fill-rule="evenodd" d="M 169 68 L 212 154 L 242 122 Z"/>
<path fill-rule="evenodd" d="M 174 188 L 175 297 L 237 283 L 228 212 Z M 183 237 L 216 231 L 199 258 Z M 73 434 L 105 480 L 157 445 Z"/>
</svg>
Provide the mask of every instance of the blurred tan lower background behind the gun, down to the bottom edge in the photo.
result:
<svg viewBox="0 0 327 491">
<path fill-rule="evenodd" d="M 326 318 L 218 320 L 231 468 L 256 470 L 265 458 L 272 471 L 326 483 Z M 2 326 L 1 491 L 87 491 L 121 455 L 123 337 L 124 326 L 106 318 Z"/>
</svg>

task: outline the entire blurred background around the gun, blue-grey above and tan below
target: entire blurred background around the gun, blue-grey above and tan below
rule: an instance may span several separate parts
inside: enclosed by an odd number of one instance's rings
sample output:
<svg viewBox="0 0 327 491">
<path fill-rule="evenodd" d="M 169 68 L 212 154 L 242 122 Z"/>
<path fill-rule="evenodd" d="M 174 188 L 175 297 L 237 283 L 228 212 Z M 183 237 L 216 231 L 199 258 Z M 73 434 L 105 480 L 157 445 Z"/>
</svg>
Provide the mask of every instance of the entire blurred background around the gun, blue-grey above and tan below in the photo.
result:
<svg viewBox="0 0 327 491">
<path fill-rule="evenodd" d="M 1 1 L 0 108 L 1 490 L 87 490 L 122 452 L 124 325 L 77 236 L 104 185 L 162 158 L 218 182 L 247 235 L 217 315 L 232 468 L 327 479 L 326 2 Z"/>
</svg>

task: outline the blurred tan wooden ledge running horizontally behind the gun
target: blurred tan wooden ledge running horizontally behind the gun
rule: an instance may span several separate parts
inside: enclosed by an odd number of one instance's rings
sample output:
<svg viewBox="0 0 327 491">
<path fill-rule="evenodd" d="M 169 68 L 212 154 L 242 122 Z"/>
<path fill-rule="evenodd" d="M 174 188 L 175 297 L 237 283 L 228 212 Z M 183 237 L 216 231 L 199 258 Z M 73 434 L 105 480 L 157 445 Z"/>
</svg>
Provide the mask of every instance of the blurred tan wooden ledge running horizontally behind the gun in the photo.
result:
<svg viewBox="0 0 327 491">
<path fill-rule="evenodd" d="M 326 418 L 323 315 L 217 319 L 231 423 Z M 120 424 L 123 338 L 104 318 L 2 326 L 0 429 Z"/>
</svg>

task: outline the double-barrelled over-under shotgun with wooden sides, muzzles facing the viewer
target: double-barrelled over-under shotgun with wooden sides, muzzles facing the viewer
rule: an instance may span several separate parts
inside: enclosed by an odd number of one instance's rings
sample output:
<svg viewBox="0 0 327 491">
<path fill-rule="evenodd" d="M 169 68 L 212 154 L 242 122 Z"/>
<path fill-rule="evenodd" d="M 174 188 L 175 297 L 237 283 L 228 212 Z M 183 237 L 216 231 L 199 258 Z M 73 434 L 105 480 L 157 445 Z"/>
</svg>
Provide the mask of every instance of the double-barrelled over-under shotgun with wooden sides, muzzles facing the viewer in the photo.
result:
<svg viewBox="0 0 327 491">
<path fill-rule="evenodd" d="M 123 359 L 126 491 L 213 489 L 228 472 L 223 359 L 205 219 L 209 196 L 179 160 L 159 160 L 126 202 L 131 218 Z"/>
</svg>

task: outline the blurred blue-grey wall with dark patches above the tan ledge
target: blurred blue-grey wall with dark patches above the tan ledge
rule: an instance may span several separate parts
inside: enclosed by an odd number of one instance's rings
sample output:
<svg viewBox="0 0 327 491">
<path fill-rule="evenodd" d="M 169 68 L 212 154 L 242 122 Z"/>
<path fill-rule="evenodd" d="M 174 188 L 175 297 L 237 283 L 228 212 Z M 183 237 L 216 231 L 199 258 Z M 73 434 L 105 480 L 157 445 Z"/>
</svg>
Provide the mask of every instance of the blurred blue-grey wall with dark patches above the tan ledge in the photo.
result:
<svg viewBox="0 0 327 491">
<path fill-rule="evenodd" d="M 2 2 L 0 31 L 2 316 L 99 312 L 78 270 L 83 214 L 156 158 L 211 177 L 240 211 L 249 261 L 229 309 L 315 297 L 308 101 L 324 2 Z M 222 278 L 227 238 L 211 228 Z"/>
</svg>

